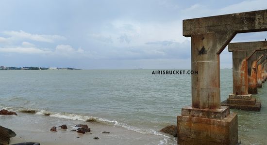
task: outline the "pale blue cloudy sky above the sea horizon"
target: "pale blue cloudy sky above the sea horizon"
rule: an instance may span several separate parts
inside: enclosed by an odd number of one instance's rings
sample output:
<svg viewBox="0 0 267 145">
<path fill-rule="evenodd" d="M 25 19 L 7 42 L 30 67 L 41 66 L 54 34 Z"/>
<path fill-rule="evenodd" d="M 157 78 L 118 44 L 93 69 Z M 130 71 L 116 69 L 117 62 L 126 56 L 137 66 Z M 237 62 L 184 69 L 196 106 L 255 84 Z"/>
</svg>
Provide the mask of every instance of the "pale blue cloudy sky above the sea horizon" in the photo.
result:
<svg viewBox="0 0 267 145">
<path fill-rule="evenodd" d="M 264 9 L 267 0 L 0 0 L 0 66 L 190 69 L 184 19 Z M 220 67 L 232 68 L 227 48 Z"/>
</svg>

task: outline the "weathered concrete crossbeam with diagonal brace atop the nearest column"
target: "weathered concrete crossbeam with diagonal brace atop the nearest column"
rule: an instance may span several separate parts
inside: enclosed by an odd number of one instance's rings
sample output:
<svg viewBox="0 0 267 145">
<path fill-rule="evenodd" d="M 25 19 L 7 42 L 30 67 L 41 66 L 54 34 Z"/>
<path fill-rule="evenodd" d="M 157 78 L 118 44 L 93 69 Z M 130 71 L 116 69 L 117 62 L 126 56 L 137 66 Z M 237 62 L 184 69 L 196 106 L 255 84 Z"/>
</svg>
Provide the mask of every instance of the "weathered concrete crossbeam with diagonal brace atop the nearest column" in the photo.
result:
<svg viewBox="0 0 267 145">
<path fill-rule="evenodd" d="M 267 10 L 183 20 L 183 35 L 215 33 L 220 54 L 237 33 L 267 31 Z"/>
</svg>

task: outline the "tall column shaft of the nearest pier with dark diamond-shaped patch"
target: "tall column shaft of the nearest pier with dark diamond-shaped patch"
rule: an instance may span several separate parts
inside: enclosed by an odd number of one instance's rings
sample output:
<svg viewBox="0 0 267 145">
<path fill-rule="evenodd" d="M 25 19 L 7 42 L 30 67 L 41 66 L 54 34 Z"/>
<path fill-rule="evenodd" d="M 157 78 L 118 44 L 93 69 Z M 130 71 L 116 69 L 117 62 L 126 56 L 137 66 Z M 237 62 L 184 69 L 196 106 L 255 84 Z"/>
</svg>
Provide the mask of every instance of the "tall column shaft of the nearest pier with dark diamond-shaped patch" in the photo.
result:
<svg viewBox="0 0 267 145">
<path fill-rule="evenodd" d="M 191 37 L 191 68 L 199 72 L 191 77 L 192 106 L 195 108 L 220 108 L 220 71 L 216 40 L 215 33 Z"/>
</svg>

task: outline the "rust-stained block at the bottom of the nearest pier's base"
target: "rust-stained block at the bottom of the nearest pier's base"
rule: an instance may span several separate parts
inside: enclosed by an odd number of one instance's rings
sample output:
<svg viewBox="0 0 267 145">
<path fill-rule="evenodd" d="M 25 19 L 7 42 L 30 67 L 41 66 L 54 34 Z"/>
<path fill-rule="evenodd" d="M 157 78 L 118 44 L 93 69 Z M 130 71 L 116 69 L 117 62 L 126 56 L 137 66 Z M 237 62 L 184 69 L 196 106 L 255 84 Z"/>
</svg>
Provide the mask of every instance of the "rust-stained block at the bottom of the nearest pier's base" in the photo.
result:
<svg viewBox="0 0 267 145">
<path fill-rule="evenodd" d="M 237 114 L 222 120 L 177 116 L 179 145 L 236 145 Z"/>
</svg>

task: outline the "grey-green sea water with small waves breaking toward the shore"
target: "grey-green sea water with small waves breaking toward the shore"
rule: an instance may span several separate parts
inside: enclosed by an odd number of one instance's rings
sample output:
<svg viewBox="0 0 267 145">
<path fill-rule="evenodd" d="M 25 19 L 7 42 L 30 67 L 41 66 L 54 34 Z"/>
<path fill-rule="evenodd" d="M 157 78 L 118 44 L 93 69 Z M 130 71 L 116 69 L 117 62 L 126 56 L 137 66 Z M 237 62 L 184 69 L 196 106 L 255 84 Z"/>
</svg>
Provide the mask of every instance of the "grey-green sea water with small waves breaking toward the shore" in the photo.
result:
<svg viewBox="0 0 267 145">
<path fill-rule="evenodd" d="M 176 124 L 191 104 L 190 75 L 152 75 L 153 70 L 0 71 L 0 108 L 35 110 L 36 115 L 95 120 L 144 134 Z M 232 70 L 220 73 L 221 101 L 233 91 Z M 238 140 L 267 144 L 267 84 L 253 97 L 261 112 L 238 113 Z"/>
</svg>

